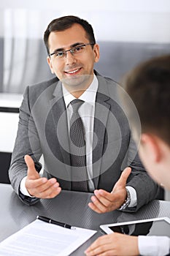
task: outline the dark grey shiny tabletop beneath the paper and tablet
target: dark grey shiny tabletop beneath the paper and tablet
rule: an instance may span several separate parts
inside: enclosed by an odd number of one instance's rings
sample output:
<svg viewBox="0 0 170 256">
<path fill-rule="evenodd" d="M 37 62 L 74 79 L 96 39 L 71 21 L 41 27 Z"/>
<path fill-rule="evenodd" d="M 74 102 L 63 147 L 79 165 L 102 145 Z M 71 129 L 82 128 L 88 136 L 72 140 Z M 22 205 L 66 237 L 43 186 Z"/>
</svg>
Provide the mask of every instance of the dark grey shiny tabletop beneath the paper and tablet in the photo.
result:
<svg viewBox="0 0 170 256">
<path fill-rule="evenodd" d="M 72 255 L 84 255 L 84 250 L 98 236 L 102 236 L 99 225 L 126 222 L 136 219 L 170 217 L 170 202 L 154 200 L 136 213 L 112 211 L 107 214 L 96 214 L 88 207 L 91 193 L 62 191 L 53 199 L 40 200 L 34 206 L 27 206 L 20 201 L 8 184 L 0 184 L 0 241 L 36 219 L 37 215 L 50 217 L 69 225 L 85 227 L 98 232 Z"/>
</svg>

